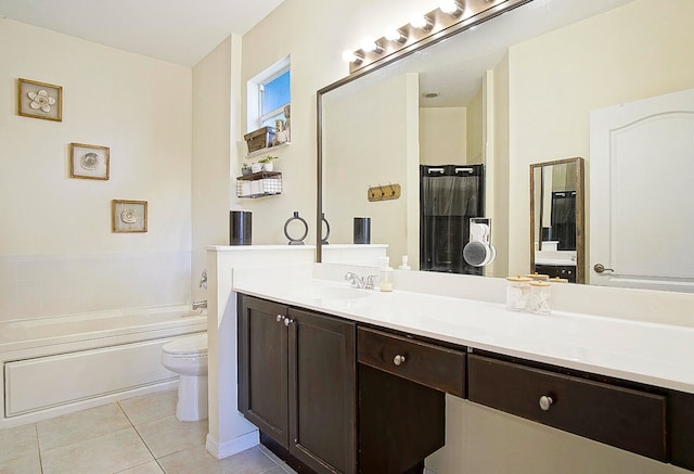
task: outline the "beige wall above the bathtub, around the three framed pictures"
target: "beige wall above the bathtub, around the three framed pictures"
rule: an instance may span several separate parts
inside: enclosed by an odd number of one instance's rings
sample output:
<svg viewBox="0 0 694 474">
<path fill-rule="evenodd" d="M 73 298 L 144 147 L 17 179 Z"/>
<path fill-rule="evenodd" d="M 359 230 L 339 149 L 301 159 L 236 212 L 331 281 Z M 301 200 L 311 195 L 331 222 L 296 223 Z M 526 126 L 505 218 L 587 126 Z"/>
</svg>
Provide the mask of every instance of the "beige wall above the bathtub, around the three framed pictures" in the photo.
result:
<svg viewBox="0 0 694 474">
<path fill-rule="evenodd" d="M 190 299 L 191 71 L 0 18 L 0 319 Z M 16 114 L 16 79 L 63 87 L 63 120 Z M 111 179 L 69 178 L 70 142 Z M 111 201 L 149 202 L 112 233 Z"/>
</svg>

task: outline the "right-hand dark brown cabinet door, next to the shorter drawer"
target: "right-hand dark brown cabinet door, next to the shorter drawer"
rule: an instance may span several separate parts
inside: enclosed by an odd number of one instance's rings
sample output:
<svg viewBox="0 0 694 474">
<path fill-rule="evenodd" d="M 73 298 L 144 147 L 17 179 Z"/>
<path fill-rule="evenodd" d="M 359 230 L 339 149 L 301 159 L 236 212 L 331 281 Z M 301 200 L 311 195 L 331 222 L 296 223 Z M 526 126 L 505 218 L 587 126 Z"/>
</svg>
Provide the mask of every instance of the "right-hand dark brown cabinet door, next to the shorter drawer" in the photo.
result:
<svg viewBox="0 0 694 474">
<path fill-rule="evenodd" d="M 290 309 L 290 452 L 317 473 L 354 473 L 356 325 Z"/>
</svg>

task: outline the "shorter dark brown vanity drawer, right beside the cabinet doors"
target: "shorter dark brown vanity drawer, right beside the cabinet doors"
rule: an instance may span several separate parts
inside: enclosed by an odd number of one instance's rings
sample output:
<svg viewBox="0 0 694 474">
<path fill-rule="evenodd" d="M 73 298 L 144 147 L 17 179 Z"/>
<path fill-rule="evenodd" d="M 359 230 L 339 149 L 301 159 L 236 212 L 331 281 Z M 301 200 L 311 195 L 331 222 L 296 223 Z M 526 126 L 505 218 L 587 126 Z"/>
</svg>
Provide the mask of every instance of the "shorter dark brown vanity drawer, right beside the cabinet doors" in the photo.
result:
<svg viewBox="0 0 694 474">
<path fill-rule="evenodd" d="M 357 360 L 441 392 L 465 396 L 465 354 L 458 350 L 359 328 Z"/>
</svg>

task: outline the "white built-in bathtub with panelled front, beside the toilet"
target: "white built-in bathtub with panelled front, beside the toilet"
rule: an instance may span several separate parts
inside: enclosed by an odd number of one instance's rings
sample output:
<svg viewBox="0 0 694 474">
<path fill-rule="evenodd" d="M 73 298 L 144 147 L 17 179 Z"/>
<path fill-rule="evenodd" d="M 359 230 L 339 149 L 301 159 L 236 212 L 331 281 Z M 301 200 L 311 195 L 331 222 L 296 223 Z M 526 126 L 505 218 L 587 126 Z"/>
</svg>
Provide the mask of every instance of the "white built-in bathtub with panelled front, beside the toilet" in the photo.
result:
<svg viewBox="0 0 694 474">
<path fill-rule="evenodd" d="M 0 322 L 0 427 L 174 388 L 162 346 L 206 330 L 188 306 Z"/>
</svg>

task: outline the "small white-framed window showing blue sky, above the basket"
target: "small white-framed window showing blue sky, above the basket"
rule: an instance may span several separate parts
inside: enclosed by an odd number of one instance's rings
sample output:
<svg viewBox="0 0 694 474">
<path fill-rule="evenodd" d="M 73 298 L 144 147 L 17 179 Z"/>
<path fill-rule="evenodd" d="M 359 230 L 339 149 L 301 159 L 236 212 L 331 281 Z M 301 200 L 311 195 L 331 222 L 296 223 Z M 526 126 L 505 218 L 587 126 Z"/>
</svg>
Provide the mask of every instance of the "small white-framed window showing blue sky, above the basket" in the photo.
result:
<svg viewBox="0 0 694 474">
<path fill-rule="evenodd" d="M 285 119 L 284 106 L 292 101 L 291 82 L 288 56 L 248 81 L 248 131 L 274 127 L 274 120 Z"/>
</svg>

